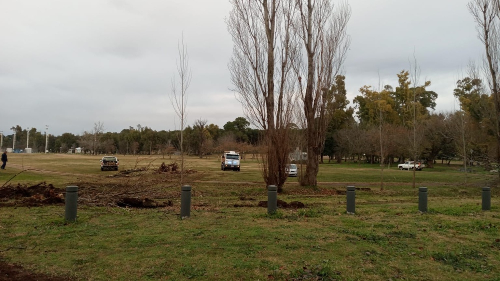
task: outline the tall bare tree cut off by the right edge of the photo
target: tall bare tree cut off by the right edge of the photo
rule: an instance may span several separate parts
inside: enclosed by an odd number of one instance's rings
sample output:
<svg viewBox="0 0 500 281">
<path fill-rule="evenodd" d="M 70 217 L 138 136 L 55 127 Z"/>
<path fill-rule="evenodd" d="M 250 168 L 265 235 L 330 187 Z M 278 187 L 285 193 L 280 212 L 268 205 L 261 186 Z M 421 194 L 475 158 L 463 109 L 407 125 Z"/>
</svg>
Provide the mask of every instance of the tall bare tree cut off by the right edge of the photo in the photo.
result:
<svg viewBox="0 0 500 281">
<path fill-rule="evenodd" d="M 496 163 L 500 164 L 500 1 L 472 0 L 467 8 L 476 22 L 477 37 L 484 45 L 483 70 L 495 106 Z M 498 173 L 500 177 L 500 173 Z"/>
</svg>

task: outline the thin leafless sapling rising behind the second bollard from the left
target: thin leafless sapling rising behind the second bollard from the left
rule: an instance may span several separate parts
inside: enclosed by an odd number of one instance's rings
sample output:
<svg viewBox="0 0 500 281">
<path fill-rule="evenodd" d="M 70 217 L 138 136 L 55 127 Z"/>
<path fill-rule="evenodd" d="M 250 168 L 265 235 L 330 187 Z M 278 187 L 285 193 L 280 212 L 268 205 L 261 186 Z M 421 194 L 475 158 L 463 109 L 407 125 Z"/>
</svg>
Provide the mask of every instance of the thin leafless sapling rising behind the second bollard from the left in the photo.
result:
<svg viewBox="0 0 500 281">
<path fill-rule="evenodd" d="M 187 53 L 187 46 L 184 45 L 184 36 L 182 36 L 181 44 L 177 43 L 179 57 L 177 61 L 177 75 L 178 81 L 175 76 L 172 77 L 170 103 L 172 104 L 175 114 L 180 122 L 180 184 L 183 183 L 184 175 L 184 146 L 183 146 L 183 131 L 186 125 L 187 117 L 187 89 L 191 83 L 191 69 L 189 68 L 189 55 Z"/>
</svg>

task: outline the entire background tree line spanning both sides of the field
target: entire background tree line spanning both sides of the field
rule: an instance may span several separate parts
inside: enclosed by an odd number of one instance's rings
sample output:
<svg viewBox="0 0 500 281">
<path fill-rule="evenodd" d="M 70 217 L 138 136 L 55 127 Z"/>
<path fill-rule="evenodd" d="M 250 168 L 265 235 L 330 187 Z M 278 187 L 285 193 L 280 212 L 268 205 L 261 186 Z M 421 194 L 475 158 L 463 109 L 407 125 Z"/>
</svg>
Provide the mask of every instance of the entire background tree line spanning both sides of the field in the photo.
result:
<svg viewBox="0 0 500 281">
<path fill-rule="evenodd" d="M 369 86 L 360 88 L 360 95 L 349 107 L 345 91 L 333 93 L 333 110 L 324 138 L 322 155 L 329 161 L 366 161 L 390 165 L 412 159 L 412 118 L 409 118 L 413 103 L 417 108 L 417 150 L 419 159 L 431 168 L 439 159 L 449 163 L 452 159 L 481 162 L 494 166 L 496 162 L 495 108 L 492 96 L 485 92 L 478 78 L 465 77 L 456 82 L 453 93 L 460 109 L 436 113 L 437 93 L 422 86 L 412 88 L 408 72 L 397 74 L 396 87 L 385 85 L 381 90 Z M 413 92 L 416 99 L 412 98 Z M 383 104 L 383 150 L 380 151 L 380 134 L 375 114 L 377 106 Z M 226 122 L 222 128 L 196 120 L 184 129 L 185 154 L 204 157 L 225 150 L 238 150 L 246 157 L 265 151 L 261 144 L 262 131 L 250 128 L 250 122 L 243 117 Z M 15 126 L 16 148 L 26 145 L 27 131 Z M 88 132 L 80 135 L 63 133 L 48 135 L 47 150 L 50 153 L 67 153 L 80 147 L 87 154 L 142 154 L 172 155 L 178 151 L 180 131 L 156 131 L 140 124 L 128 127 L 119 133 L 104 132 L 103 124 L 97 122 Z M 290 153 L 299 149 L 306 151 L 301 138 L 304 130 L 292 124 L 289 133 Z M 12 146 L 11 135 L 3 138 L 3 148 Z M 29 129 L 29 147 L 38 152 L 45 149 L 45 135 L 36 128 Z M 94 150 L 95 147 L 95 150 Z M 319 158 L 322 162 L 323 157 Z M 383 159 L 383 160 L 382 160 Z M 380 163 L 383 162 L 383 163 Z"/>
</svg>

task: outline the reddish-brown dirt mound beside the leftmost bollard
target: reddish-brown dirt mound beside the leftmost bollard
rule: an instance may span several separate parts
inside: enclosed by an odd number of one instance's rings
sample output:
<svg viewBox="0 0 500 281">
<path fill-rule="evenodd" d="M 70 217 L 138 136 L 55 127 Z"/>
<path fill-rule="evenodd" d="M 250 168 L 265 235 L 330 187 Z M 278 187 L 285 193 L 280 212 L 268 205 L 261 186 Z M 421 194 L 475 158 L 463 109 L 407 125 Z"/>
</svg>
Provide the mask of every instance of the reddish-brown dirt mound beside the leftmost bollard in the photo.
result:
<svg viewBox="0 0 500 281">
<path fill-rule="evenodd" d="M 38 207 L 64 203 L 65 191 L 45 182 L 32 186 L 20 185 L 0 188 L 0 206 Z"/>
</svg>

